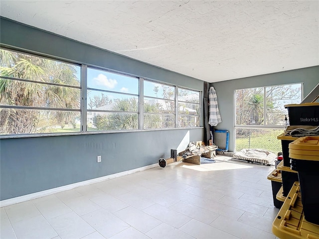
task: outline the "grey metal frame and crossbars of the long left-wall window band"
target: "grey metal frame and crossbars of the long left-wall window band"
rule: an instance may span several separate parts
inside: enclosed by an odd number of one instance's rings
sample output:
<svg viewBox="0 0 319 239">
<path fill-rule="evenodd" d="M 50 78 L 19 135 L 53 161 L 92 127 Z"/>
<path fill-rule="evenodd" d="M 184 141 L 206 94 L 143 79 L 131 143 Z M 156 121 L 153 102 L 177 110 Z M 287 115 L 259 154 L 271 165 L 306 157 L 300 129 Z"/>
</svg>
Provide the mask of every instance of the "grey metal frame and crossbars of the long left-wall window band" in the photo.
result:
<svg viewBox="0 0 319 239">
<path fill-rule="evenodd" d="M 0 134 L 0 138 L 19 138 L 19 137 L 40 137 L 40 136 L 60 136 L 60 135 L 77 135 L 77 134 L 99 134 L 99 133 L 117 133 L 117 132 L 130 132 L 130 131 L 155 131 L 155 130 L 178 130 L 178 129 L 185 129 L 185 128 L 201 128 L 202 127 L 202 91 L 196 90 L 196 89 L 191 89 L 187 87 L 181 87 L 178 85 L 166 83 L 160 80 L 153 80 L 150 78 L 145 78 L 142 76 L 136 76 L 133 74 L 128 74 L 128 73 L 123 73 L 123 72 L 118 72 L 112 69 L 107 69 L 104 67 L 99 67 L 99 66 L 94 66 L 90 64 L 82 64 L 79 62 L 71 61 L 68 59 L 60 58 L 57 56 L 49 56 L 46 54 L 41 54 L 33 51 L 28 51 L 28 50 L 20 50 L 20 49 L 15 49 L 9 46 L 0 46 L 1 49 L 7 50 L 7 51 L 12 51 L 20 54 L 27 54 L 31 55 L 34 57 L 39 57 L 39 58 L 44 58 L 52 61 L 58 61 L 66 64 L 71 64 L 74 66 L 80 67 L 79 73 L 80 73 L 80 86 L 70 86 L 70 85 L 62 85 L 62 84 L 55 84 L 55 83 L 50 83 L 50 82 L 38 82 L 38 81 L 32 81 L 32 80 L 26 80 L 26 79 L 9 79 L 11 77 L 1 77 L 9 80 L 18 80 L 18 81 L 26 81 L 26 82 L 31 82 L 31 83 L 38 83 L 38 84 L 46 84 L 46 85 L 53 85 L 53 86 L 62 86 L 62 87 L 70 87 L 70 88 L 75 88 L 80 90 L 80 108 L 79 109 L 64 109 L 64 108 L 44 108 L 44 107 L 24 107 L 24 106 L 5 106 L 5 105 L 0 105 L 0 108 L 9 108 L 9 109 L 30 109 L 30 110 L 53 110 L 53 111 L 72 111 L 72 112 L 80 112 L 80 129 L 79 131 L 73 131 L 73 132 L 45 132 L 45 133 L 17 133 L 17 134 Z M 101 70 L 101 71 L 106 71 L 110 72 L 113 74 L 119 74 L 123 76 L 128 76 L 128 77 L 133 77 L 133 78 L 138 78 L 138 84 L 139 84 L 139 89 L 138 89 L 138 95 L 135 94 L 128 94 L 128 93 L 120 93 L 120 92 L 113 92 L 113 91 L 106 91 L 106 90 L 99 90 L 99 89 L 93 89 L 87 87 L 87 71 L 88 68 L 91 69 L 96 69 L 96 70 Z M 175 89 L 175 96 L 173 100 L 169 100 L 174 102 L 175 104 L 175 109 L 174 109 L 174 126 L 173 127 L 168 127 L 168 128 L 143 128 L 143 123 L 144 123 L 144 81 L 149 81 L 149 82 L 154 82 L 157 84 L 162 84 L 166 85 L 169 87 L 174 87 Z M 198 92 L 199 95 L 199 126 L 191 126 L 191 127 L 180 127 L 178 126 L 178 118 L 181 114 L 178 112 L 178 89 L 185 89 L 185 90 L 190 90 L 194 92 Z M 94 91 L 101 91 L 101 92 L 110 92 L 110 93 L 116 93 L 116 94 L 123 94 L 123 95 L 130 95 L 130 96 L 137 96 L 138 97 L 138 111 L 134 112 L 138 114 L 138 129 L 129 129 L 129 130 L 98 130 L 98 131 L 88 131 L 87 130 L 87 113 L 88 112 L 100 112 L 97 110 L 88 110 L 87 108 L 87 92 L 89 90 L 94 90 Z M 166 99 L 163 99 L 166 100 Z M 192 104 L 197 104 L 193 102 L 189 102 Z M 102 112 L 102 111 L 101 111 Z M 103 112 L 109 112 L 109 111 L 103 111 Z M 114 112 L 114 111 L 113 111 Z M 120 112 L 123 113 L 123 112 Z M 128 112 L 129 113 L 129 112 Z M 149 113 L 145 113 L 149 114 Z M 151 114 L 151 113 L 150 113 Z M 160 113 L 159 113 L 160 114 Z M 166 114 L 164 114 L 166 115 Z"/>
</svg>

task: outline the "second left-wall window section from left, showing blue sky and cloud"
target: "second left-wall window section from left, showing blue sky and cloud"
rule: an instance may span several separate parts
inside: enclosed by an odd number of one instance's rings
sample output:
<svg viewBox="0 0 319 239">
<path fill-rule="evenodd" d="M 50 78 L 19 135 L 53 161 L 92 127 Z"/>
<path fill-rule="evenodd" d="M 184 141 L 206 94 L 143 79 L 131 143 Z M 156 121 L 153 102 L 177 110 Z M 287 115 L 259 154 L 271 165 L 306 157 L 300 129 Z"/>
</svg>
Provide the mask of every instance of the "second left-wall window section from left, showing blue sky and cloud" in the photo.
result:
<svg viewBox="0 0 319 239">
<path fill-rule="evenodd" d="M 87 70 L 87 130 L 138 129 L 139 79 Z"/>
</svg>

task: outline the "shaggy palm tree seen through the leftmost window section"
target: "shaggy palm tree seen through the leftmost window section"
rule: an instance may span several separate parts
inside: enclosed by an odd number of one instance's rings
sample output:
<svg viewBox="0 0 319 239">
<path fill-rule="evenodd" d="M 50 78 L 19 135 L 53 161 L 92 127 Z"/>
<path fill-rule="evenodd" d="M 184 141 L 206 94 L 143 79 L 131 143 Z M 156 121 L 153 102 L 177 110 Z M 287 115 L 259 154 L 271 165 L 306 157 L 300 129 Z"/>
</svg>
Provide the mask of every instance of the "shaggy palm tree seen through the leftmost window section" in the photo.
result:
<svg viewBox="0 0 319 239">
<path fill-rule="evenodd" d="M 76 69 L 70 64 L 0 49 L 0 76 L 61 85 L 79 86 Z M 0 105 L 80 108 L 80 90 L 34 82 L 0 79 Z M 53 113 L 52 113 L 53 112 Z M 74 112 L 1 109 L 1 133 L 34 133 L 41 118 L 63 124 L 74 118 Z"/>
</svg>

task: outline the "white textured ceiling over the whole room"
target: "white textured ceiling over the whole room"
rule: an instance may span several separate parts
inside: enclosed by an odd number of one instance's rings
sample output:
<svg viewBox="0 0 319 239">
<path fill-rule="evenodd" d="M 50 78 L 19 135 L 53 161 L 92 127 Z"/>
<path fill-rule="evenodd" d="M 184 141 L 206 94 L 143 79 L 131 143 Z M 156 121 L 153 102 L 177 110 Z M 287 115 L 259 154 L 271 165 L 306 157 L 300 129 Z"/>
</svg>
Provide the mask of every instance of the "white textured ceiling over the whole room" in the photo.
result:
<svg viewBox="0 0 319 239">
<path fill-rule="evenodd" d="M 319 65 L 318 0 L 1 0 L 0 14 L 207 82 Z"/>
</svg>

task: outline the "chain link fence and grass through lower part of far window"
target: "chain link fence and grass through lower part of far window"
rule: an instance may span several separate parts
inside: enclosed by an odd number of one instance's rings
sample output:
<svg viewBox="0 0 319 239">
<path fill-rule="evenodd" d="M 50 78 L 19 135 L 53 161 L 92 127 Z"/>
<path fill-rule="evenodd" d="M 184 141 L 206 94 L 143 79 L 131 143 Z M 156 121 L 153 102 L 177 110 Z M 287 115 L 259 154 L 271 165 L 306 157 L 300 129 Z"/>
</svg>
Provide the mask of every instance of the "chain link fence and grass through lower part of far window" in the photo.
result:
<svg viewBox="0 0 319 239">
<path fill-rule="evenodd" d="M 235 150 L 260 148 L 277 154 L 282 151 L 281 140 L 277 136 L 283 132 L 284 129 L 236 128 Z"/>
</svg>

